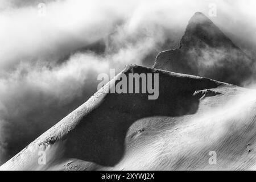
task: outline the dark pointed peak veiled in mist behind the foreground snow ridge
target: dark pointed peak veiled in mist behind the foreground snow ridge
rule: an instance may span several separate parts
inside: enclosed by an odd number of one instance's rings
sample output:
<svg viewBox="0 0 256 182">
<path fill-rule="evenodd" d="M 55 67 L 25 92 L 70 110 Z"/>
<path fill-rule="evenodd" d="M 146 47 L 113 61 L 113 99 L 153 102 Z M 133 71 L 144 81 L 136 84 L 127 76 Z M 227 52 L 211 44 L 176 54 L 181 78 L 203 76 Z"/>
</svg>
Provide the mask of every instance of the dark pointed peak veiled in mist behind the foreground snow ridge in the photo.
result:
<svg viewBox="0 0 256 182">
<path fill-rule="evenodd" d="M 179 49 L 160 52 L 153 68 L 243 85 L 253 60 L 202 13 L 189 20 Z"/>
</svg>

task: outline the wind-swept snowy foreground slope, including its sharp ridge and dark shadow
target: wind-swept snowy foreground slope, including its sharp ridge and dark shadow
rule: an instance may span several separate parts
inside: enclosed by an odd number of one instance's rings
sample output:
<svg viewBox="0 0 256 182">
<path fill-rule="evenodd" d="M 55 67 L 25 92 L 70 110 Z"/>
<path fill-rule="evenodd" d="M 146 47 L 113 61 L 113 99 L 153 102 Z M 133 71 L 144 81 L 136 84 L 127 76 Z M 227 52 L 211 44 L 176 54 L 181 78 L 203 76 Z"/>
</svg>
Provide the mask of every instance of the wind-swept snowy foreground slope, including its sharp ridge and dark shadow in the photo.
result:
<svg viewBox="0 0 256 182">
<path fill-rule="evenodd" d="M 122 73 L 159 73 L 158 100 L 102 88 L 0 169 L 256 169 L 253 90 L 137 65 Z"/>
</svg>

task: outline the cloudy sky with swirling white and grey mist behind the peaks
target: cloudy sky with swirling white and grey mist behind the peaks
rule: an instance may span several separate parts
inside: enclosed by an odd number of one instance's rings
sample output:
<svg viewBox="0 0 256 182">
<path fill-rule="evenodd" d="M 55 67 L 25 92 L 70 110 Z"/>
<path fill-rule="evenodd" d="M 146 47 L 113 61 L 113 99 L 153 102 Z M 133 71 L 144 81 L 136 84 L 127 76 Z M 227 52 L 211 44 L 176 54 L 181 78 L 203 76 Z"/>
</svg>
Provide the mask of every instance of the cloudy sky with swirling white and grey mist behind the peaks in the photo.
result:
<svg viewBox="0 0 256 182">
<path fill-rule="evenodd" d="M 0 0 L 0 164 L 96 92 L 98 73 L 152 64 L 212 4 L 255 56 L 255 0 Z"/>
</svg>

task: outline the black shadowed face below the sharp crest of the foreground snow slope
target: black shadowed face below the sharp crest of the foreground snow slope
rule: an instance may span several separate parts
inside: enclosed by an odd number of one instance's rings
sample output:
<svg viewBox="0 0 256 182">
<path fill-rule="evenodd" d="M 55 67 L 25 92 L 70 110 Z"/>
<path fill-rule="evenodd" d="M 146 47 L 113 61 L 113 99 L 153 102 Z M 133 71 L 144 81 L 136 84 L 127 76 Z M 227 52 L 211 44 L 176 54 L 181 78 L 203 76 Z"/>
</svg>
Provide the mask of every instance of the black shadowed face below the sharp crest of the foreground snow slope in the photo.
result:
<svg viewBox="0 0 256 182">
<path fill-rule="evenodd" d="M 131 66 L 124 72 L 159 73 L 159 98 L 148 100 L 147 94 L 108 94 L 96 109 L 81 118 L 68 134 L 67 156 L 102 166 L 114 166 L 124 154 L 127 130 L 138 119 L 154 115 L 170 117 L 194 114 L 199 100 L 195 90 L 216 88 L 219 83 Z M 82 136 L 82 137 L 81 137 Z"/>
</svg>

